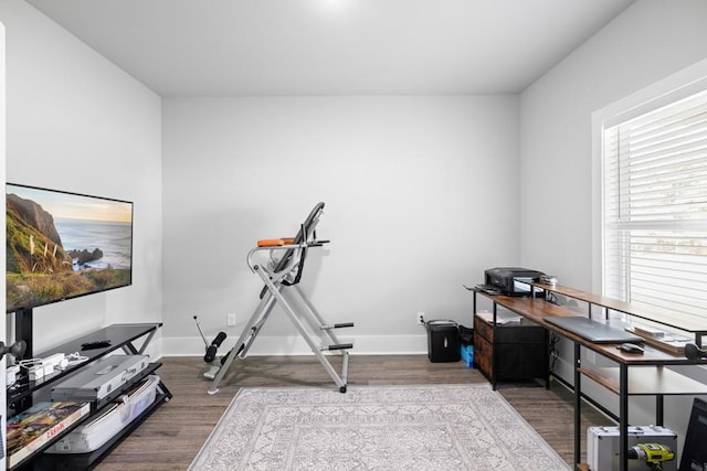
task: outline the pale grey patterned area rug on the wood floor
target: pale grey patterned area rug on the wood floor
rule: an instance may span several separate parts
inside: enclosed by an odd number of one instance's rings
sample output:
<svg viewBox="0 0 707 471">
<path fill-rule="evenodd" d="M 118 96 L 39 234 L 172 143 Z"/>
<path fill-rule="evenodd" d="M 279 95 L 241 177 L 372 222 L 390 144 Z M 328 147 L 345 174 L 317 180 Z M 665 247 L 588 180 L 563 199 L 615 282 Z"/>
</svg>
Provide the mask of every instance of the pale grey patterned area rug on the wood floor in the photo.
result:
<svg viewBox="0 0 707 471">
<path fill-rule="evenodd" d="M 567 470 L 487 384 L 243 388 L 201 470 Z"/>
</svg>

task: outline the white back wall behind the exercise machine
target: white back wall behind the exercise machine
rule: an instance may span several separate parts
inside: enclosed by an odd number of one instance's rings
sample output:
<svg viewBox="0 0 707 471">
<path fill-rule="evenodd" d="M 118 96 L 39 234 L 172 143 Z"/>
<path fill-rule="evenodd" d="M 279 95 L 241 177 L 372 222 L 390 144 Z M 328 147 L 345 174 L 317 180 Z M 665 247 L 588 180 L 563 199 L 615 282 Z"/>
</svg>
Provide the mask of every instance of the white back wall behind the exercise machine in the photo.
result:
<svg viewBox="0 0 707 471">
<path fill-rule="evenodd" d="M 355 353 L 426 352 L 421 310 L 471 325 L 462 283 L 518 260 L 517 113 L 514 96 L 166 98 L 166 354 L 203 352 L 194 314 L 235 341 L 261 287 L 246 253 L 318 201 L 331 244 L 302 286 L 356 323 Z M 293 334 L 276 310 L 252 353 L 307 353 Z"/>
</svg>

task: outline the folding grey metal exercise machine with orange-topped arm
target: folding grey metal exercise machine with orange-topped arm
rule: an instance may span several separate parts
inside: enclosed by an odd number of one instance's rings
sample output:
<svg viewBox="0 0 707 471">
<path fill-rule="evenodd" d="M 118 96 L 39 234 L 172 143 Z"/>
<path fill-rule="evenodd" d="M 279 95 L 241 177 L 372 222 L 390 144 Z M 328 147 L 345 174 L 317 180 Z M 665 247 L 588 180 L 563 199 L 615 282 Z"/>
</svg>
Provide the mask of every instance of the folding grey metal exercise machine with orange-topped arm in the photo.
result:
<svg viewBox="0 0 707 471">
<path fill-rule="evenodd" d="M 275 306 L 279 306 L 295 325 L 297 332 L 309 345 L 339 392 L 346 393 L 349 350 L 351 343 L 341 343 L 334 330 L 354 327 L 352 322 L 327 324 L 297 286 L 302 279 L 307 250 L 321 247 L 329 240 L 318 240 L 316 227 L 324 212 L 324 203 L 317 203 L 294 238 L 262 239 L 247 254 L 247 266 L 263 281 L 260 302 L 245 324 L 235 346 L 222 358 L 222 365 L 215 374 L 209 394 L 217 394 L 219 385 L 235 357 L 245 358 L 247 351 Z M 265 263 L 257 263 L 265 257 Z M 287 299 L 289 298 L 289 299 Z M 324 338 L 324 345 L 317 342 Z M 325 352 L 340 354 L 341 374 L 331 366 Z"/>
</svg>

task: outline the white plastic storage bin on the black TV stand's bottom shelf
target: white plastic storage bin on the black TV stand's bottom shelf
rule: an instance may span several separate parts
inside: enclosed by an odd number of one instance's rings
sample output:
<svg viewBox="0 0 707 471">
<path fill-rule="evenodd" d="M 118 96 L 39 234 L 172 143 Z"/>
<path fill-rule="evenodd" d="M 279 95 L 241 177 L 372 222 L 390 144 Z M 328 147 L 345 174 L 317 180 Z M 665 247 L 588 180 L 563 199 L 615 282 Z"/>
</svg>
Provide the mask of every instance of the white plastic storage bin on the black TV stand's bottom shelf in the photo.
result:
<svg viewBox="0 0 707 471">
<path fill-rule="evenodd" d="M 155 402 L 159 381 L 159 376 L 147 376 L 130 394 L 118 398 L 105 413 L 76 427 L 44 452 L 87 453 L 103 447 Z"/>
</svg>

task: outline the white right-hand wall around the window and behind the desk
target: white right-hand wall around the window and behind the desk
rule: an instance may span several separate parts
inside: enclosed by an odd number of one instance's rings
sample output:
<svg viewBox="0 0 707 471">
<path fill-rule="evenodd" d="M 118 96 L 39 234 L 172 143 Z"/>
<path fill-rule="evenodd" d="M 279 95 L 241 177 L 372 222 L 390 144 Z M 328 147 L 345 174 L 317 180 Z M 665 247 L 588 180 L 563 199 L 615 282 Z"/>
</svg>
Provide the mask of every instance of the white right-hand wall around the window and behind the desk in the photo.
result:
<svg viewBox="0 0 707 471">
<path fill-rule="evenodd" d="M 592 279 L 599 243 L 592 227 L 592 113 L 707 57 L 706 24 L 703 0 L 639 0 L 521 94 L 524 265 L 542 266 L 567 286 L 601 289 Z M 557 372 L 571 382 L 569 346 L 560 344 Z M 587 386 L 618 411 L 614 395 Z M 631 404 L 632 424 L 654 421 L 653 398 Z M 680 442 L 690 407 L 690 397 L 666 398 L 665 425 Z"/>
</svg>

